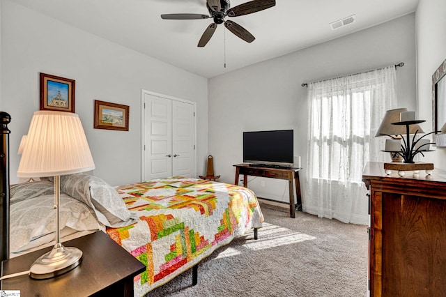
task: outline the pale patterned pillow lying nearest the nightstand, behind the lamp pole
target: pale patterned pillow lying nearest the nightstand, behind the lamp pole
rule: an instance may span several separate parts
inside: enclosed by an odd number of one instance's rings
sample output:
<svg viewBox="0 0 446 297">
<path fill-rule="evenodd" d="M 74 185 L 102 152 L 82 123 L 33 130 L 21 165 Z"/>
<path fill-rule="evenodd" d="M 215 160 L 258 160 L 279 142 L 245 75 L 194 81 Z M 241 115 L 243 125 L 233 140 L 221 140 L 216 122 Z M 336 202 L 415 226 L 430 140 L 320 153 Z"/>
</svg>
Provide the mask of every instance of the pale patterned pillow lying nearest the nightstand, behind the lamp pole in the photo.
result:
<svg viewBox="0 0 446 297">
<path fill-rule="evenodd" d="M 26 249 L 32 241 L 48 234 L 56 234 L 54 195 L 34 197 L 10 206 L 10 252 Z M 60 228 L 77 231 L 100 229 L 91 209 L 68 195 L 61 195 Z M 51 237 L 49 237 L 51 240 Z"/>
</svg>

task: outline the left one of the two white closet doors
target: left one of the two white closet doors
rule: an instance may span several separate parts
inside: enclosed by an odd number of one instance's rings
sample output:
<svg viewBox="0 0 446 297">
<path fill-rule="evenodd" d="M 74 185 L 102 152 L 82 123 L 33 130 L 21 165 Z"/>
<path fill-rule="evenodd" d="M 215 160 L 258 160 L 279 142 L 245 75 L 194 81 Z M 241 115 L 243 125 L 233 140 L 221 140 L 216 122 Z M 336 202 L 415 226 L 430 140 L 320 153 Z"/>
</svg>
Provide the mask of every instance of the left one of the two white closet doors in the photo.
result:
<svg viewBox="0 0 446 297">
<path fill-rule="evenodd" d="M 172 176 L 172 100 L 144 94 L 144 181 Z"/>
</svg>

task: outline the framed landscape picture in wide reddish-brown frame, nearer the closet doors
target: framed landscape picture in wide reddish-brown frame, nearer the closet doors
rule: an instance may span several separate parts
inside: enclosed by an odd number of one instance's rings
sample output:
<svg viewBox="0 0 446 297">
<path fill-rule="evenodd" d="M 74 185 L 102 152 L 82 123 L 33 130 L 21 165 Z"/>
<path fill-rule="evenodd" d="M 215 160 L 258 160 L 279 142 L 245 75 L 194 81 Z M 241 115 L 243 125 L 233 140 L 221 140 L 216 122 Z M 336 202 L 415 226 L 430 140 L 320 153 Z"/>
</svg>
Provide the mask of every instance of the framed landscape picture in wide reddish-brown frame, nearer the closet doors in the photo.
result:
<svg viewBox="0 0 446 297">
<path fill-rule="evenodd" d="M 94 128 L 128 131 L 128 105 L 95 100 Z"/>
</svg>

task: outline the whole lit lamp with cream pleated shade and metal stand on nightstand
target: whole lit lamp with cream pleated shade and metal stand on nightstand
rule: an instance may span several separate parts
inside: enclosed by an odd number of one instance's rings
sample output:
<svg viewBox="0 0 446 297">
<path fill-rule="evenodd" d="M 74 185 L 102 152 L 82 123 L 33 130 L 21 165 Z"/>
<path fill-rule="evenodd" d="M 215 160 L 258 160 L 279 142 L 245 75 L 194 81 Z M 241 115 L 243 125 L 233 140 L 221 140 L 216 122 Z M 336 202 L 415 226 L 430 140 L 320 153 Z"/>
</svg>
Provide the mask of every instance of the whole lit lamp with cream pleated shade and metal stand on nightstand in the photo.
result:
<svg viewBox="0 0 446 297">
<path fill-rule="evenodd" d="M 60 176 L 95 169 L 89 144 L 77 114 L 70 112 L 34 112 L 18 177 L 54 176 L 54 206 L 56 209 L 56 244 L 39 257 L 30 268 L 34 279 L 46 279 L 66 273 L 82 261 L 82 251 L 66 248 L 61 243 L 59 227 Z"/>
</svg>

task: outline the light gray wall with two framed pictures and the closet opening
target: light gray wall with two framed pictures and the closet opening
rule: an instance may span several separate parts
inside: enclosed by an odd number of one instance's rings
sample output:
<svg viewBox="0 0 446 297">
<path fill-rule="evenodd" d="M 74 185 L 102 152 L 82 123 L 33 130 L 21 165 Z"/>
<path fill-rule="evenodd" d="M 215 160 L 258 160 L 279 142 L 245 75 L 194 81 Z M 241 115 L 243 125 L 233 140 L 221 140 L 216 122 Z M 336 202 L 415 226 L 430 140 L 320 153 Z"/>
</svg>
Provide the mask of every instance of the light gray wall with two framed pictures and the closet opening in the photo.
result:
<svg viewBox="0 0 446 297">
<path fill-rule="evenodd" d="M 17 149 L 39 109 L 39 73 L 76 81 L 76 113 L 96 169 L 112 185 L 141 178 L 141 89 L 197 102 L 197 170 L 208 151 L 208 80 L 1 0 L 1 109 L 9 112 L 10 179 Z M 93 129 L 94 100 L 130 105 L 130 131 Z"/>
</svg>

